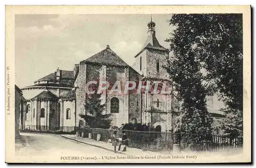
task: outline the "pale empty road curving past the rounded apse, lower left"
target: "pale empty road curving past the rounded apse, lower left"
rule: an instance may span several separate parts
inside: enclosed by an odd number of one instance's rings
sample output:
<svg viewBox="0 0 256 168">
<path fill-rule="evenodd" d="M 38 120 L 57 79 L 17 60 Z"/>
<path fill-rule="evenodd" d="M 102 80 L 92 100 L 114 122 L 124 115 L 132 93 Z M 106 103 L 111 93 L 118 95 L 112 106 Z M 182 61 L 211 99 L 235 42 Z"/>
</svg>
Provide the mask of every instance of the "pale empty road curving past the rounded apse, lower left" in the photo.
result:
<svg viewBox="0 0 256 168">
<path fill-rule="evenodd" d="M 44 157 L 58 156 L 60 160 L 69 161 L 72 159 L 86 160 L 86 157 L 122 157 L 126 156 L 121 153 L 114 153 L 108 150 L 100 149 L 90 145 L 78 143 L 70 139 L 66 139 L 57 134 L 46 133 L 20 133 L 20 144 L 16 145 L 16 154 L 23 157 Z M 114 149 L 114 148 L 113 148 Z M 71 158 L 71 157 L 73 158 Z M 70 158 L 69 158 L 70 157 Z M 75 158 L 79 157 L 79 158 Z M 87 158 L 90 159 L 92 158 Z M 102 161 L 102 159 L 100 159 Z M 104 158 L 104 162 L 111 162 L 112 158 Z M 81 161 L 81 160 L 80 160 Z"/>
</svg>

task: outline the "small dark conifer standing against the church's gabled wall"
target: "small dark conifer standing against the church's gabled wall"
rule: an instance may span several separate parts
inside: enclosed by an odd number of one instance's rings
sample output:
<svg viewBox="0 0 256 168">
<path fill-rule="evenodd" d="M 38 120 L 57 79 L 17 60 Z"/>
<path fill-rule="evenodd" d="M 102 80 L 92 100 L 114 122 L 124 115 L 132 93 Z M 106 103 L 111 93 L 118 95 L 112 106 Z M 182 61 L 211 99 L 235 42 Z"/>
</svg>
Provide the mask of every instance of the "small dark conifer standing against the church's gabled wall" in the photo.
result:
<svg viewBox="0 0 256 168">
<path fill-rule="evenodd" d="M 111 114 L 102 114 L 105 103 L 101 104 L 101 94 L 97 94 L 97 86 L 92 85 L 92 89 L 95 90 L 94 94 L 86 94 L 86 115 L 80 114 L 79 116 L 86 120 L 91 128 L 110 128 L 111 126 Z"/>
</svg>

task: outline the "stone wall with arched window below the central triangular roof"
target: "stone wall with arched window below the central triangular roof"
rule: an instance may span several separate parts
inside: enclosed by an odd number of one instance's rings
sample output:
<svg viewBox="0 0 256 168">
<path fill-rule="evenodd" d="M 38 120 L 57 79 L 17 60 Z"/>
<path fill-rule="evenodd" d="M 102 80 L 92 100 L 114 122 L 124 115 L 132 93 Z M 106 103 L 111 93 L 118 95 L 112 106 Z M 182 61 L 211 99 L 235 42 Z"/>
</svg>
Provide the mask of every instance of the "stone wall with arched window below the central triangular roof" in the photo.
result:
<svg viewBox="0 0 256 168">
<path fill-rule="evenodd" d="M 86 70 L 86 73 L 83 71 Z M 104 65 L 97 65 L 97 64 L 80 64 L 79 67 L 79 74 L 75 81 L 75 86 L 78 88 L 76 89 L 76 96 L 77 96 L 77 114 L 86 114 L 86 110 L 84 109 L 85 97 L 86 97 L 86 82 L 88 81 L 100 81 L 106 80 L 110 83 L 110 87 L 108 90 L 103 91 L 101 95 L 102 103 L 105 103 L 105 111 L 103 114 L 110 114 L 111 113 L 111 99 L 113 97 L 118 98 L 119 100 L 119 113 L 112 114 L 112 125 L 120 126 L 121 124 L 125 124 L 129 122 L 129 109 L 131 104 L 137 103 L 138 95 L 132 96 L 134 98 L 131 100 L 129 94 L 124 94 L 124 86 L 125 82 L 130 80 L 129 79 L 129 68 L 125 67 L 114 67 L 114 66 L 104 66 Z M 86 80 L 83 79 L 86 77 Z M 121 93 L 112 92 L 111 89 L 114 86 L 116 81 L 120 81 L 121 86 Z M 137 98 L 137 99 L 135 99 Z M 81 104 L 82 103 L 82 104 Z M 136 107 L 138 108 L 138 107 Z M 134 108 L 131 109 L 134 113 Z M 135 114 L 135 113 L 134 113 Z M 77 115 L 78 116 L 78 115 Z M 135 116 L 137 120 L 139 120 L 139 115 Z M 77 117 L 77 125 L 80 118 Z"/>
</svg>

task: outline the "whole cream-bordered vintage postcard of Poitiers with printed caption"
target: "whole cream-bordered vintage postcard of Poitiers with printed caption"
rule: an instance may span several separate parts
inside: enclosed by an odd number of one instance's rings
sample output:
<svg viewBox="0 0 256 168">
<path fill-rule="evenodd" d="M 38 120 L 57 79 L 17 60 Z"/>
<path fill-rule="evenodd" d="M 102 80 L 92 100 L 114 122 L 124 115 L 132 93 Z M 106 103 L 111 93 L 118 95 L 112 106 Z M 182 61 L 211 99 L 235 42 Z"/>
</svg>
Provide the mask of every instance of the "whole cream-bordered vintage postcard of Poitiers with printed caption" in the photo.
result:
<svg viewBox="0 0 256 168">
<path fill-rule="evenodd" d="M 251 162 L 250 6 L 6 6 L 7 163 Z"/>
</svg>

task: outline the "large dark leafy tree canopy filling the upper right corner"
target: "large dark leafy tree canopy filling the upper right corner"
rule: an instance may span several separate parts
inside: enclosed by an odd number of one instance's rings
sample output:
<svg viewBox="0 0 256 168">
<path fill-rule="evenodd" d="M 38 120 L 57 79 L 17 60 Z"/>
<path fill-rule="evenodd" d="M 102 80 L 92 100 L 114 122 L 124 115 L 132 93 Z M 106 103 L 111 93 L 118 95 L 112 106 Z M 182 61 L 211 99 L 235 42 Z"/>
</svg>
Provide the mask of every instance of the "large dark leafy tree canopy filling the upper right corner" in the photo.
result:
<svg viewBox="0 0 256 168">
<path fill-rule="evenodd" d="M 197 78 L 201 80 L 205 94 L 218 93 L 226 105 L 226 108 L 222 109 L 227 114 L 222 122 L 225 133 L 242 134 L 242 14 L 174 14 L 169 24 L 173 25 L 175 30 L 171 33 L 172 36 L 166 39 L 170 42 L 170 50 L 174 54 L 174 60 L 169 61 L 168 67 L 180 66 L 174 69 L 181 72 L 184 68 L 184 65 L 179 64 L 181 58 L 184 57 L 185 60 L 188 58 L 187 54 L 193 55 L 197 69 L 204 71 L 198 73 Z M 195 67 L 192 62 L 189 65 Z M 186 68 L 184 72 L 182 75 L 174 70 L 169 71 L 170 77 L 177 83 L 178 90 L 180 85 L 182 86 L 180 78 L 187 77 Z M 234 116 L 238 118 L 231 120 Z"/>
</svg>

